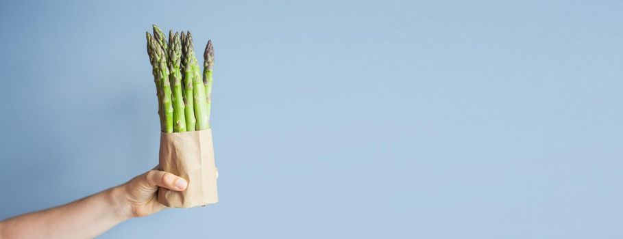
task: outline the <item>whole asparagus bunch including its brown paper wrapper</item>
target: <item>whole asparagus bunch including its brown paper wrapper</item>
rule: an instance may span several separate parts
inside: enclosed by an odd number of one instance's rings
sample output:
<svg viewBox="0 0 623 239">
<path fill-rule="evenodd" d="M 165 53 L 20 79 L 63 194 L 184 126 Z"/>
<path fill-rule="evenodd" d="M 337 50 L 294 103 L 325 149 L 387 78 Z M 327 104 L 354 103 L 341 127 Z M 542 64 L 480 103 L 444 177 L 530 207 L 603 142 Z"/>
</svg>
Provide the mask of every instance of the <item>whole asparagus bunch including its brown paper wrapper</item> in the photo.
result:
<svg viewBox="0 0 623 239">
<path fill-rule="evenodd" d="M 214 47 L 208 41 L 204 70 L 197 64 L 193 35 L 169 31 L 168 40 L 154 25 L 147 36 L 147 54 L 156 83 L 160 116 L 158 169 L 188 182 L 182 192 L 158 189 L 158 201 L 169 207 L 191 208 L 219 201 L 210 104 Z"/>
</svg>

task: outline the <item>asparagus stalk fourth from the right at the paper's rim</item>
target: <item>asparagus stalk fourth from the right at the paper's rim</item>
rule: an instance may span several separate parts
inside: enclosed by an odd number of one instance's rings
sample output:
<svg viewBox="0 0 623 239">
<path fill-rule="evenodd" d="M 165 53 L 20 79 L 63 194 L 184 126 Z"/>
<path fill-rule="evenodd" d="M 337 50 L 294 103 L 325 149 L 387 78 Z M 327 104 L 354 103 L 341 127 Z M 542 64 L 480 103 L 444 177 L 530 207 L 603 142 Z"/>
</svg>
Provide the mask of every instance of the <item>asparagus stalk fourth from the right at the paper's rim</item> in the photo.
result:
<svg viewBox="0 0 623 239">
<path fill-rule="evenodd" d="M 184 116 L 184 97 L 182 96 L 182 73 L 180 73 L 180 58 L 182 46 L 180 36 L 169 31 L 169 78 L 173 85 L 173 132 L 186 132 L 186 117 Z"/>
</svg>

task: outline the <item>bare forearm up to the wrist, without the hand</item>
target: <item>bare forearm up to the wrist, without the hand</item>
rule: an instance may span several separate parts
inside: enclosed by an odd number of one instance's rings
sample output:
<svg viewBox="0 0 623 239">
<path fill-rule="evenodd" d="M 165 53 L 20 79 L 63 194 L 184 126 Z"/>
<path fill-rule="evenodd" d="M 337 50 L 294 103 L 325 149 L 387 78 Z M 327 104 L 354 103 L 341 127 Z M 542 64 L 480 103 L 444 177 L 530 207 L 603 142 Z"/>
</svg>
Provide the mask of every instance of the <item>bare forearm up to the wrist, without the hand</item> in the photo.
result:
<svg viewBox="0 0 623 239">
<path fill-rule="evenodd" d="M 118 186 L 63 206 L 0 222 L 0 238 L 94 238 L 130 218 Z"/>
</svg>

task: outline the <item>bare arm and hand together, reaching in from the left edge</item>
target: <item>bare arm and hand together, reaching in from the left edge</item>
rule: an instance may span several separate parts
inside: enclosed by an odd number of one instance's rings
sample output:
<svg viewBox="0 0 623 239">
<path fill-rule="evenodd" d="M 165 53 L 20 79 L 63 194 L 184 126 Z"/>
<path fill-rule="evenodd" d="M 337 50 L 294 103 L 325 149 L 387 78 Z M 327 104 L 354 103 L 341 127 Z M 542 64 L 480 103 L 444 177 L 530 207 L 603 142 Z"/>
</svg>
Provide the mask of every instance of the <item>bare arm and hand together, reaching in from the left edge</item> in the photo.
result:
<svg viewBox="0 0 623 239">
<path fill-rule="evenodd" d="M 0 239 L 95 238 L 122 221 L 167 208 L 156 199 L 159 186 L 184 191 L 187 185 L 173 173 L 150 170 L 125 184 L 63 206 L 0 221 Z"/>
</svg>

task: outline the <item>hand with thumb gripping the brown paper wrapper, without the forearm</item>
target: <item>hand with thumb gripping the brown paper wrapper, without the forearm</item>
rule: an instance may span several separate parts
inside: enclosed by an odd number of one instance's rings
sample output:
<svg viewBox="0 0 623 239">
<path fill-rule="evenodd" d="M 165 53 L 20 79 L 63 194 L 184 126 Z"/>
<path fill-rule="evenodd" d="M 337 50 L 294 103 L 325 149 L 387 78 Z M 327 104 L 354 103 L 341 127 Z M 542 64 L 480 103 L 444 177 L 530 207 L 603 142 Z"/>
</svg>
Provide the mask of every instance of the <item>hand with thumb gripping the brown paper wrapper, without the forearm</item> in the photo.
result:
<svg viewBox="0 0 623 239">
<path fill-rule="evenodd" d="M 156 199 L 158 186 L 173 191 L 184 191 L 188 182 L 173 173 L 150 170 L 129 182 L 113 188 L 113 197 L 119 214 L 126 218 L 149 216 L 167 208 Z"/>
</svg>

